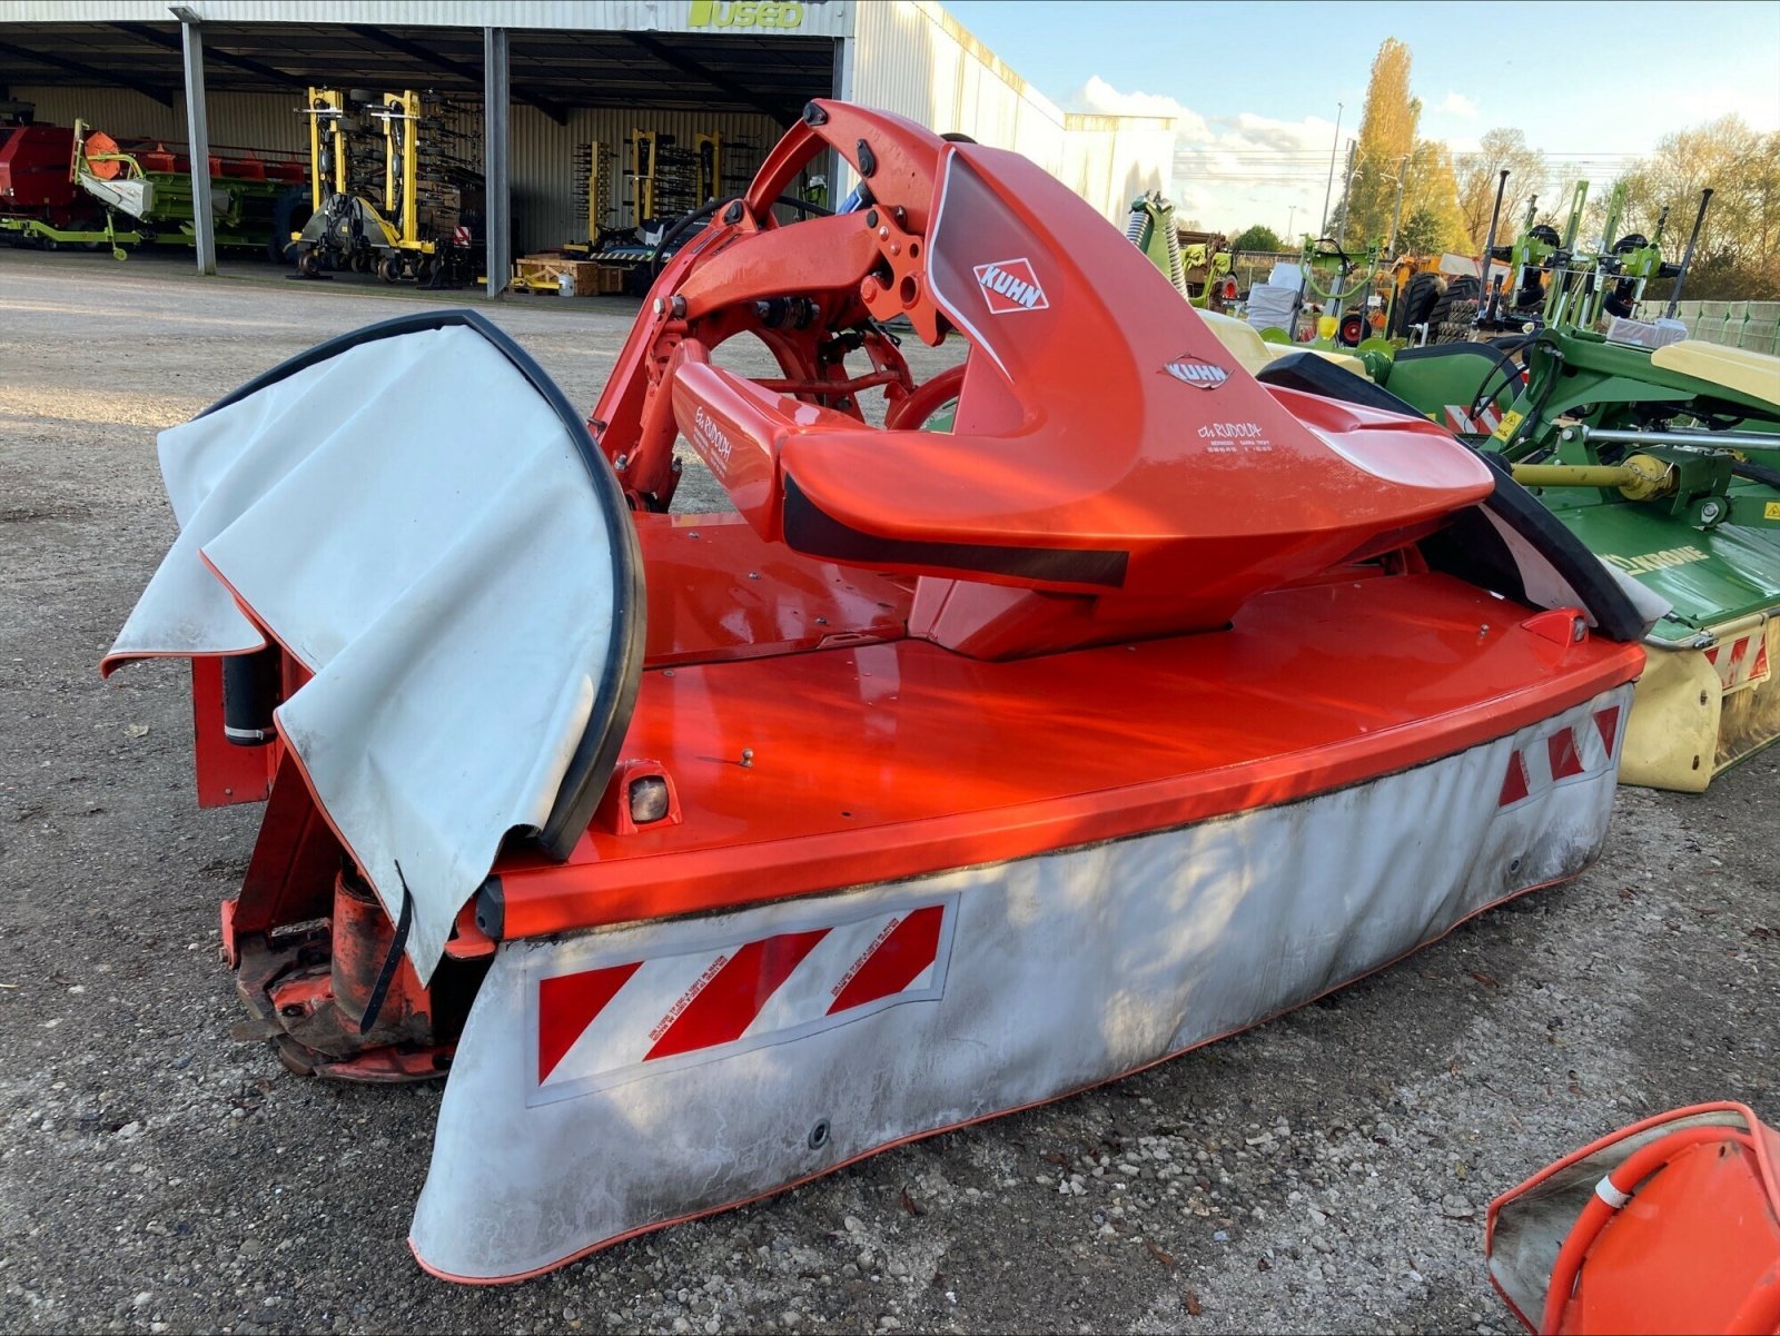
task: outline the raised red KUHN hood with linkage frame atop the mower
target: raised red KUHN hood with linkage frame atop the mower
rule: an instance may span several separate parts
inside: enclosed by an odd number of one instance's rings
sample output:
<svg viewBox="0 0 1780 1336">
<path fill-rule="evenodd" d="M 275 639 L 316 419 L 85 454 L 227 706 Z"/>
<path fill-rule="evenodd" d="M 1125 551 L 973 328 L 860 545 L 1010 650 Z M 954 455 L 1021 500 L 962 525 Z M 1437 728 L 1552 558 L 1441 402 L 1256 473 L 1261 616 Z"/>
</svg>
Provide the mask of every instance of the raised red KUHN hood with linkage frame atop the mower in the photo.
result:
<svg viewBox="0 0 1780 1336">
<path fill-rule="evenodd" d="M 1493 489 L 1428 422 L 1258 384 L 1105 219 L 1020 155 L 812 109 L 787 144 L 835 144 L 869 201 L 797 224 L 735 205 L 662 274 L 595 411 L 644 505 L 660 502 L 643 482 L 660 477 L 651 457 L 678 431 L 769 539 L 1091 598 L 1072 621 L 1164 632 L 1225 624 L 1250 596 L 1401 546 Z M 769 187 L 790 157 L 767 164 Z M 968 343 L 951 432 L 860 414 L 833 340 L 863 327 L 874 363 L 906 377 L 870 340 L 899 315 L 929 342 Z M 708 365 L 744 331 L 780 354 L 783 382 Z M 1056 617 L 1041 621 L 997 653 L 1061 648 Z"/>
</svg>

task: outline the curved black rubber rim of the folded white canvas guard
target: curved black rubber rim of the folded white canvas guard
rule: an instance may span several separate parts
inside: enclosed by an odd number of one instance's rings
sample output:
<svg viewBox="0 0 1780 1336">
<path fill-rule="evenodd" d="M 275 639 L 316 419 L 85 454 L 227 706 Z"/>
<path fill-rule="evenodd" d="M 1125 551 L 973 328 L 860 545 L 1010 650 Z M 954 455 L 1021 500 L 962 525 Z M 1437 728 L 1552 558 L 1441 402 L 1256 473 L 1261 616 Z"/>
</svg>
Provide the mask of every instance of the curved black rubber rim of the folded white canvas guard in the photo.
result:
<svg viewBox="0 0 1780 1336">
<path fill-rule="evenodd" d="M 272 370 L 253 377 L 247 384 L 224 395 L 198 416 L 208 416 L 279 381 L 287 381 L 297 372 L 367 343 L 376 343 L 383 338 L 400 338 L 402 334 L 418 334 L 429 329 L 449 329 L 452 326 L 473 329 L 493 343 L 543 400 L 550 404 L 552 411 L 555 411 L 562 422 L 562 429 L 575 443 L 580 463 L 587 470 L 587 479 L 600 503 L 600 514 L 605 519 L 605 532 L 611 543 L 609 555 L 616 583 L 612 591 L 612 649 L 607 655 L 605 671 L 600 674 L 600 692 L 587 715 L 587 726 L 575 744 L 575 753 L 562 776 L 562 786 L 557 790 L 550 817 L 536 834 L 538 845 L 552 859 L 562 863 L 575 849 L 575 841 L 580 840 L 582 831 L 587 829 L 587 822 L 593 820 L 593 809 L 600 806 L 600 797 L 605 793 L 612 767 L 618 763 L 618 749 L 625 742 L 625 729 L 630 726 L 630 713 L 637 703 L 637 687 L 643 681 L 646 596 L 643 587 L 643 551 L 637 548 L 637 532 L 630 521 L 630 507 L 625 505 L 618 479 L 607 468 L 605 457 L 587 434 L 587 423 L 570 406 L 557 382 L 486 315 L 466 308 L 447 308 L 379 320 L 374 326 L 365 326 L 363 329 L 354 329 L 338 338 L 317 343 L 313 349 L 299 352 L 295 358 L 281 361 Z"/>
</svg>

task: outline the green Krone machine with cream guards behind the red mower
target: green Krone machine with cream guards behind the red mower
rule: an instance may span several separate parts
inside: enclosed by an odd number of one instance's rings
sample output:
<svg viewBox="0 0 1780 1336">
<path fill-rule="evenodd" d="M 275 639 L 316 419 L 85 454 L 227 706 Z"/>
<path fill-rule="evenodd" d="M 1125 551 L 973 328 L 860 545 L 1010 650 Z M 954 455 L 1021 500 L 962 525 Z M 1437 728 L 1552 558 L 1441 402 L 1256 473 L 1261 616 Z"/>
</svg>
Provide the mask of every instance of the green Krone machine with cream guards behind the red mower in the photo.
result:
<svg viewBox="0 0 1780 1336">
<path fill-rule="evenodd" d="M 1679 295 L 1693 242 L 1668 263 L 1659 222 L 1654 240 L 1581 253 L 1582 197 L 1566 235 L 1529 226 L 1495 251 L 1515 256 L 1513 279 L 1495 285 L 1481 322 L 1492 308 L 1497 326 L 1511 317 L 1509 338 L 1367 340 L 1349 358 L 1307 359 L 1234 320 L 1214 329 L 1264 381 L 1396 402 L 1445 425 L 1659 600 L 1652 608 L 1666 605 L 1646 637 L 1622 779 L 1700 792 L 1780 738 L 1780 358 L 1664 343 L 1673 331 L 1632 318 L 1648 279 L 1675 278 Z"/>
</svg>

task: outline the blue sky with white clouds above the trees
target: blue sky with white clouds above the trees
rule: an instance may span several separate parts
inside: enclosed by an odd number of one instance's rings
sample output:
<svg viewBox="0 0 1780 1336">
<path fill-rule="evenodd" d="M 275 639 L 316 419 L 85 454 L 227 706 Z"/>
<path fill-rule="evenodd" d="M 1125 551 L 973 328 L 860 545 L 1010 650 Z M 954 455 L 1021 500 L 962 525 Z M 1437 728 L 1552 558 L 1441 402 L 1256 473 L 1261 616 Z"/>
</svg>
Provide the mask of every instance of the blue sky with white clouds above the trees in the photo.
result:
<svg viewBox="0 0 1780 1336">
<path fill-rule="evenodd" d="M 1422 133 L 1454 151 L 1513 126 L 1556 167 L 1607 181 L 1725 112 L 1780 130 L 1780 0 L 942 4 L 1064 109 L 1180 114 L 1175 192 L 1214 228 L 1303 229 L 1321 210 L 1337 103 L 1346 141 L 1385 37 L 1413 53 Z"/>
</svg>

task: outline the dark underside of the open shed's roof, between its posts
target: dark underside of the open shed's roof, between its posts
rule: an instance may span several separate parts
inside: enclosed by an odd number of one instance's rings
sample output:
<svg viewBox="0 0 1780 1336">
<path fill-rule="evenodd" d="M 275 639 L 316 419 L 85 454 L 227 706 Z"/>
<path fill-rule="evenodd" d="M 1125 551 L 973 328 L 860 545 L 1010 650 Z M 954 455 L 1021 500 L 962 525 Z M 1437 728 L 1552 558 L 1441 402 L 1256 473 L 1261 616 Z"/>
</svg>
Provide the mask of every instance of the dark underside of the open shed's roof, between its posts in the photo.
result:
<svg viewBox="0 0 1780 1336">
<path fill-rule="evenodd" d="M 331 11 L 336 12 L 336 11 Z M 482 91 L 481 28 L 368 23 L 203 25 L 212 93 L 368 87 Z M 554 119 L 570 107 L 765 112 L 796 119 L 828 96 L 835 41 L 758 30 L 509 30 L 513 100 Z M 0 87 L 130 87 L 158 101 L 183 96 L 180 25 L 0 23 Z"/>
</svg>

